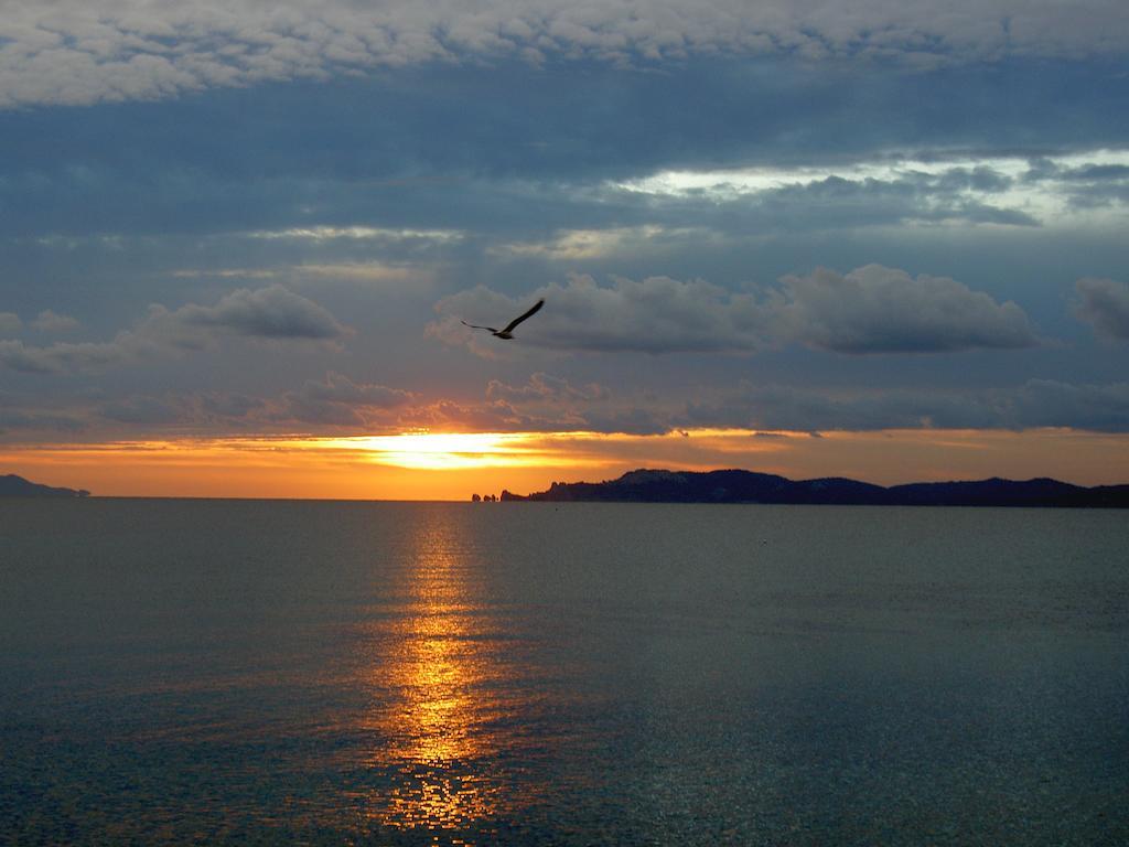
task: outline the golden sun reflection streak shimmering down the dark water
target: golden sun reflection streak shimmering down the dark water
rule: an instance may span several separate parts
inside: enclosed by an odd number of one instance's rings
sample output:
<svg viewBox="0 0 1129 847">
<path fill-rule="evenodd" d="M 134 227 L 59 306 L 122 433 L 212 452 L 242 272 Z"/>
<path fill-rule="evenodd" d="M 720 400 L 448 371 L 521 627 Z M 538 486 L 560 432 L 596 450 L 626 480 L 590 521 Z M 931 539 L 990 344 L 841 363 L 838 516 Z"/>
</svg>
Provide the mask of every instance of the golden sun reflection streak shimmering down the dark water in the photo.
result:
<svg viewBox="0 0 1129 847">
<path fill-rule="evenodd" d="M 395 829 L 465 829 L 496 819 L 501 785 L 485 766 L 498 748 L 489 722 L 502 709 L 485 701 L 502 671 L 489 615 L 475 601 L 473 556 L 457 521 L 421 522 L 405 577 L 406 608 L 392 618 L 390 648 L 374 669 L 392 692 L 367 728 L 387 744 L 373 765 L 394 770 L 394 785 L 373 817 Z"/>
</svg>

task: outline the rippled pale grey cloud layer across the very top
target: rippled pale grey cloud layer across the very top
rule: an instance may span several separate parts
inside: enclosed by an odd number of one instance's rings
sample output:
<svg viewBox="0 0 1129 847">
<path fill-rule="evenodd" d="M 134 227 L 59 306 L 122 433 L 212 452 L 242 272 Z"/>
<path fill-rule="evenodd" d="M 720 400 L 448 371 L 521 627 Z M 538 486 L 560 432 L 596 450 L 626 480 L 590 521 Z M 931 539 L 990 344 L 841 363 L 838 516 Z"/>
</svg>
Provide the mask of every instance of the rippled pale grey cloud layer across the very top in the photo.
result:
<svg viewBox="0 0 1129 847">
<path fill-rule="evenodd" d="M 155 99 L 216 86 L 321 79 L 434 61 L 554 56 L 642 63 L 689 55 L 786 53 L 930 68 L 1008 55 L 1110 55 L 1129 45 L 1118 0 L 1069 8 L 1023 0 L 797 5 L 703 0 L 449 0 L 264 6 L 205 0 L 7 3 L 0 107 Z"/>
</svg>

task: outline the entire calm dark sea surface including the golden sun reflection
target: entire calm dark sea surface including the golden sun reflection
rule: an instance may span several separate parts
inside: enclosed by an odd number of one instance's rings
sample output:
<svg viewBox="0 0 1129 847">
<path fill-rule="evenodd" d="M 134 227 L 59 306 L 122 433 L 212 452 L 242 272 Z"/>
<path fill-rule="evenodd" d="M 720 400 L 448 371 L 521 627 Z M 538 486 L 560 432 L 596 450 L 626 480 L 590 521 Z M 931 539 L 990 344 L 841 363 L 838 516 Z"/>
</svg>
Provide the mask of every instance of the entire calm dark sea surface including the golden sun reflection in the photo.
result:
<svg viewBox="0 0 1129 847">
<path fill-rule="evenodd" d="M 0 501 L 0 842 L 1123 845 L 1129 514 Z"/>
</svg>

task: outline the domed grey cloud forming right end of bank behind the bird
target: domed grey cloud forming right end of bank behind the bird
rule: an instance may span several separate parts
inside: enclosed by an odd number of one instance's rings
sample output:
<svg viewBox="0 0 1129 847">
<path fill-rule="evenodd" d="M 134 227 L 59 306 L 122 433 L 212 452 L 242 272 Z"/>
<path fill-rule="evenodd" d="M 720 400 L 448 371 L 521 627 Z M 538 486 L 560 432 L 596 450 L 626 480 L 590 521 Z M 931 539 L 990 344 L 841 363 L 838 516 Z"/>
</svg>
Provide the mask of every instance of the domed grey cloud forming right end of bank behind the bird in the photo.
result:
<svg viewBox="0 0 1129 847">
<path fill-rule="evenodd" d="M 947 277 L 868 264 L 785 277 L 779 331 L 844 353 L 1014 349 L 1038 343 L 1026 314 Z"/>
</svg>

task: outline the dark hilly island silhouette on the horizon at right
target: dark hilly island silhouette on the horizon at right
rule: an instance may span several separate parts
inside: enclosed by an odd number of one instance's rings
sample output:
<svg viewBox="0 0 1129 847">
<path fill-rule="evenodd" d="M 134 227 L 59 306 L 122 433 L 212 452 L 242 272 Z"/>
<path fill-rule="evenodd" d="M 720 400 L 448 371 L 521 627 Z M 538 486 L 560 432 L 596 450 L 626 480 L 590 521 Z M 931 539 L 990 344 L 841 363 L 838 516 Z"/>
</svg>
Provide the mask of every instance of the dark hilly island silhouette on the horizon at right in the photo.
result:
<svg viewBox="0 0 1129 847">
<path fill-rule="evenodd" d="M 763 503 L 820 506 L 1042 506 L 1129 508 L 1129 484 L 1084 488 L 1053 479 L 912 482 L 884 488 L 830 477 L 794 481 L 753 471 L 638 470 L 604 482 L 553 482 L 526 497 L 550 503 Z"/>
</svg>

